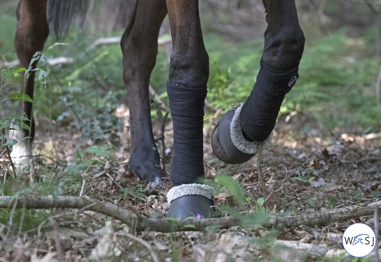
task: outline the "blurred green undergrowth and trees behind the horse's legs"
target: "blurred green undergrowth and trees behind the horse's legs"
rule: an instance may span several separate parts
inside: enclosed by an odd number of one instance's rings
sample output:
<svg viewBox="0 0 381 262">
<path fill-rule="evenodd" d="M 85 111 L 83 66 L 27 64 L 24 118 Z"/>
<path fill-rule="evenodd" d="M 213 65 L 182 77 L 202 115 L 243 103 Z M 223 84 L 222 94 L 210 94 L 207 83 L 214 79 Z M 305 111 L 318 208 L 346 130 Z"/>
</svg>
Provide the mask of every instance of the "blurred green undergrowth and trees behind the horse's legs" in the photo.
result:
<svg viewBox="0 0 381 262">
<path fill-rule="evenodd" d="M 0 1 L 0 68 L 17 59 L 13 47 L 17 1 Z M 368 0 L 296 0 L 306 45 L 300 63 L 300 79 L 287 94 L 281 113 L 312 114 L 328 131 L 358 134 L 380 132 L 381 5 Z M 35 114 L 52 120 L 70 120 L 70 126 L 100 130 L 120 124 L 110 118 L 127 103 L 122 79 L 119 44 L 87 47 L 101 37 L 120 37 L 128 24 L 133 1 L 91 0 L 85 28 L 73 26 L 59 43 L 49 37 L 36 77 Z M 228 110 L 233 101 L 244 102 L 259 70 L 266 28 L 262 0 L 200 1 L 201 23 L 210 57 L 208 111 Z M 170 36 L 168 19 L 161 39 Z M 50 47 L 50 48 L 49 48 Z M 170 49 L 170 48 L 169 48 Z M 168 79 L 168 46 L 160 45 L 150 85 L 164 103 Z M 74 63 L 48 65 L 48 59 L 64 56 Z M 19 76 L 6 79 L 4 95 L 18 92 Z M 4 104 L 2 114 L 15 111 Z M 152 96 L 152 116 L 160 108 Z M 100 135 L 94 131 L 95 134 Z"/>
</svg>

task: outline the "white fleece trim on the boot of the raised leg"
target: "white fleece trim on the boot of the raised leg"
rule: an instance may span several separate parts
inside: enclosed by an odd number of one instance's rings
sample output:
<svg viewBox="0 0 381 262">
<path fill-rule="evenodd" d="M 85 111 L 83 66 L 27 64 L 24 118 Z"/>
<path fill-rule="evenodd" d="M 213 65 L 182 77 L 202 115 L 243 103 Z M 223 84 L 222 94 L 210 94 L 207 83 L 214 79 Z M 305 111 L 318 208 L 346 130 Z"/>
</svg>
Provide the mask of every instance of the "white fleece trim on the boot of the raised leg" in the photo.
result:
<svg viewBox="0 0 381 262">
<path fill-rule="evenodd" d="M 232 124 L 230 125 L 230 136 L 232 138 L 233 144 L 238 148 L 239 151 L 245 154 L 256 154 L 258 153 L 259 144 L 262 144 L 262 149 L 267 148 L 271 144 L 271 139 L 273 138 L 274 131 L 271 132 L 269 137 L 262 142 L 257 141 L 247 141 L 242 134 L 242 128 L 239 120 L 239 113 L 241 112 L 243 104 L 236 108 L 234 113 Z"/>
</svg>

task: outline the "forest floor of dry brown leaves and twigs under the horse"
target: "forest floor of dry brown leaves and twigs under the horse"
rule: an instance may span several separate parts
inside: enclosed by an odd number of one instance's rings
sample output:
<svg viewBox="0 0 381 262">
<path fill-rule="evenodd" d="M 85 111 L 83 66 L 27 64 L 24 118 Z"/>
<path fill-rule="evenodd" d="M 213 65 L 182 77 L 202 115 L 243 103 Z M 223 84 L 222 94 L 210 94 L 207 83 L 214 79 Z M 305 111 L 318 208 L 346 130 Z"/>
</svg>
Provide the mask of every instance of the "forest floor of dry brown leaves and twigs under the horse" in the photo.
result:
<svg viewBox="0 0 381 262">
<path fill-rule="evenodd" d="M 123 108 L 117 114 L 128 118 L 128 110 Z M 167 172 L 170 122 L 164 132 Z M 162 151 L 161 125 L 154 123 L 154 134 Z M 273 144 L 262 152 L 260 167 L 257 157 L 234 166 L 214 156 L 210 146 L 212 129 L 204 128 L 206 178 L 214 181 L 216 174 L 229 175 L 245 192 L 245 203 L 239 209 L 229 186 L 215 196 L 223 217 L 250 217 L 254 211 L 296 216 L 381 200 L 380 137 L 361 136 L 355 129 L 324 131 L 312 116 L 298 112 L 279 118 Z M 41 134 L 36 140 L 39 147 L 50 148 L 52 155 L 68 161 L 73 159 L 73 148 L 93 145 L 92 141 L 78 142 L 78 134 L 64 126 L 52 132 L 48 141 Z M 126 133 L 121 135 L 124 147 L 116 153 L 115 161 L 90 169 L 94 173 L 86 180 L 83 195 L 120 208 L 131 205 L 146 218 L 165 218 L 169 208 L 165 195 L 171 184 L 167 179 L 163 186 L 142 186 L 144 182 L 128 171 L 129 142 Z M 5 165 L 7 159 L 2 160 Z M 53 172 L 49 174 L 54 176 Z M 267 192 L 272 192 L 264 204 L 260 199 L 267 198 L 268 193 L 264 193 L 258 174 Z M 5 181 L 3 175 L 0 178 Z M 64 195 L 78 196 L 80 191 L 81 186 L 77 186 Z M 55 209 L 47 216 L 39 227 L 28 231 L 21 230 L 19 223 L 12 224 L 11 219 L 9 224 L 0 224 L 0 261 L 357 261 L 343 249 L 342 234 L 356 222 L 374 227 L 374 217 L 365 216 L 313 226 L 275 229 L 251 224 L 203 232 L 161 233 L 137 232 L 119 220 L 86 210 Z M 380 216 L 378 220 L 380 224 Z M 375 261 L 375 252 L 363 261 Z"/>
</svg>

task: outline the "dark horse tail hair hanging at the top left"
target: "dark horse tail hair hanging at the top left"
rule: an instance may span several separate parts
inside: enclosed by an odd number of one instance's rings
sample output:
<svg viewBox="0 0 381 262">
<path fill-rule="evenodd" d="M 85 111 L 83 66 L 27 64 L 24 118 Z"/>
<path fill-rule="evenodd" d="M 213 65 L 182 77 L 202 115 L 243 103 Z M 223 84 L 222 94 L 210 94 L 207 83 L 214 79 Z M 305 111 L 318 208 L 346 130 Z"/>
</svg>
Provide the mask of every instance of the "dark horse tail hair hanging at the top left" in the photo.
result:
<svg viewBox="0 0 381 262">
<path fill-rule="evenodd" d="M 83 24 L 87 6 L 88 0 L 49 0 L 48 22 L 54 36 L 59 38 L 66 35 L 75 18 Z"/>
</svg>

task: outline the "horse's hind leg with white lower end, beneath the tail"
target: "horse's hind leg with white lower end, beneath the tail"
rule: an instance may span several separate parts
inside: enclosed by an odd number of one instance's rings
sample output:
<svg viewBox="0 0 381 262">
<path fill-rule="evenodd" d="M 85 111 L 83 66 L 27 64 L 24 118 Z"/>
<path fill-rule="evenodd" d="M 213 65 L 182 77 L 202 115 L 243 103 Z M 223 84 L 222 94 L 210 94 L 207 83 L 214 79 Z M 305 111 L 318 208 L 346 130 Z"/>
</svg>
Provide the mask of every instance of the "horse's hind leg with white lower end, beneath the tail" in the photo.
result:
<svg viewBox="0 0 381 262">
<path fill-rule="evenodd" d="M 38 58 L 31 63 L 36 52 L 42 51 L 49 28 L 46 16 L 47 0 L 20 0 L 17 5 L 17 29 L 14 40 L 16 53 L 20 60 L 20 66 L 28 69 L 28 76 L 22 74 L 21 92 L 33 98 L 34 76 Z M 22 164 L 25 156 L 31 155 L 34 138 L 35 123 L 32 117 L 32 103 L 23 102 L 19 105 L 19 113 L 25 114 L 30 121 L 25 124 L 30 126 L 31 131 L 21 129 L 16 131 L 13 137 L 19 141 L 13 147 L 11 157 L 16 163 Z M 18 127 L 17 127 L 18 128 Z M 21 141 L 22 138 L 29 137 Z M 24 156 L 24 158 L 22 158 Z"/>
</svg>

